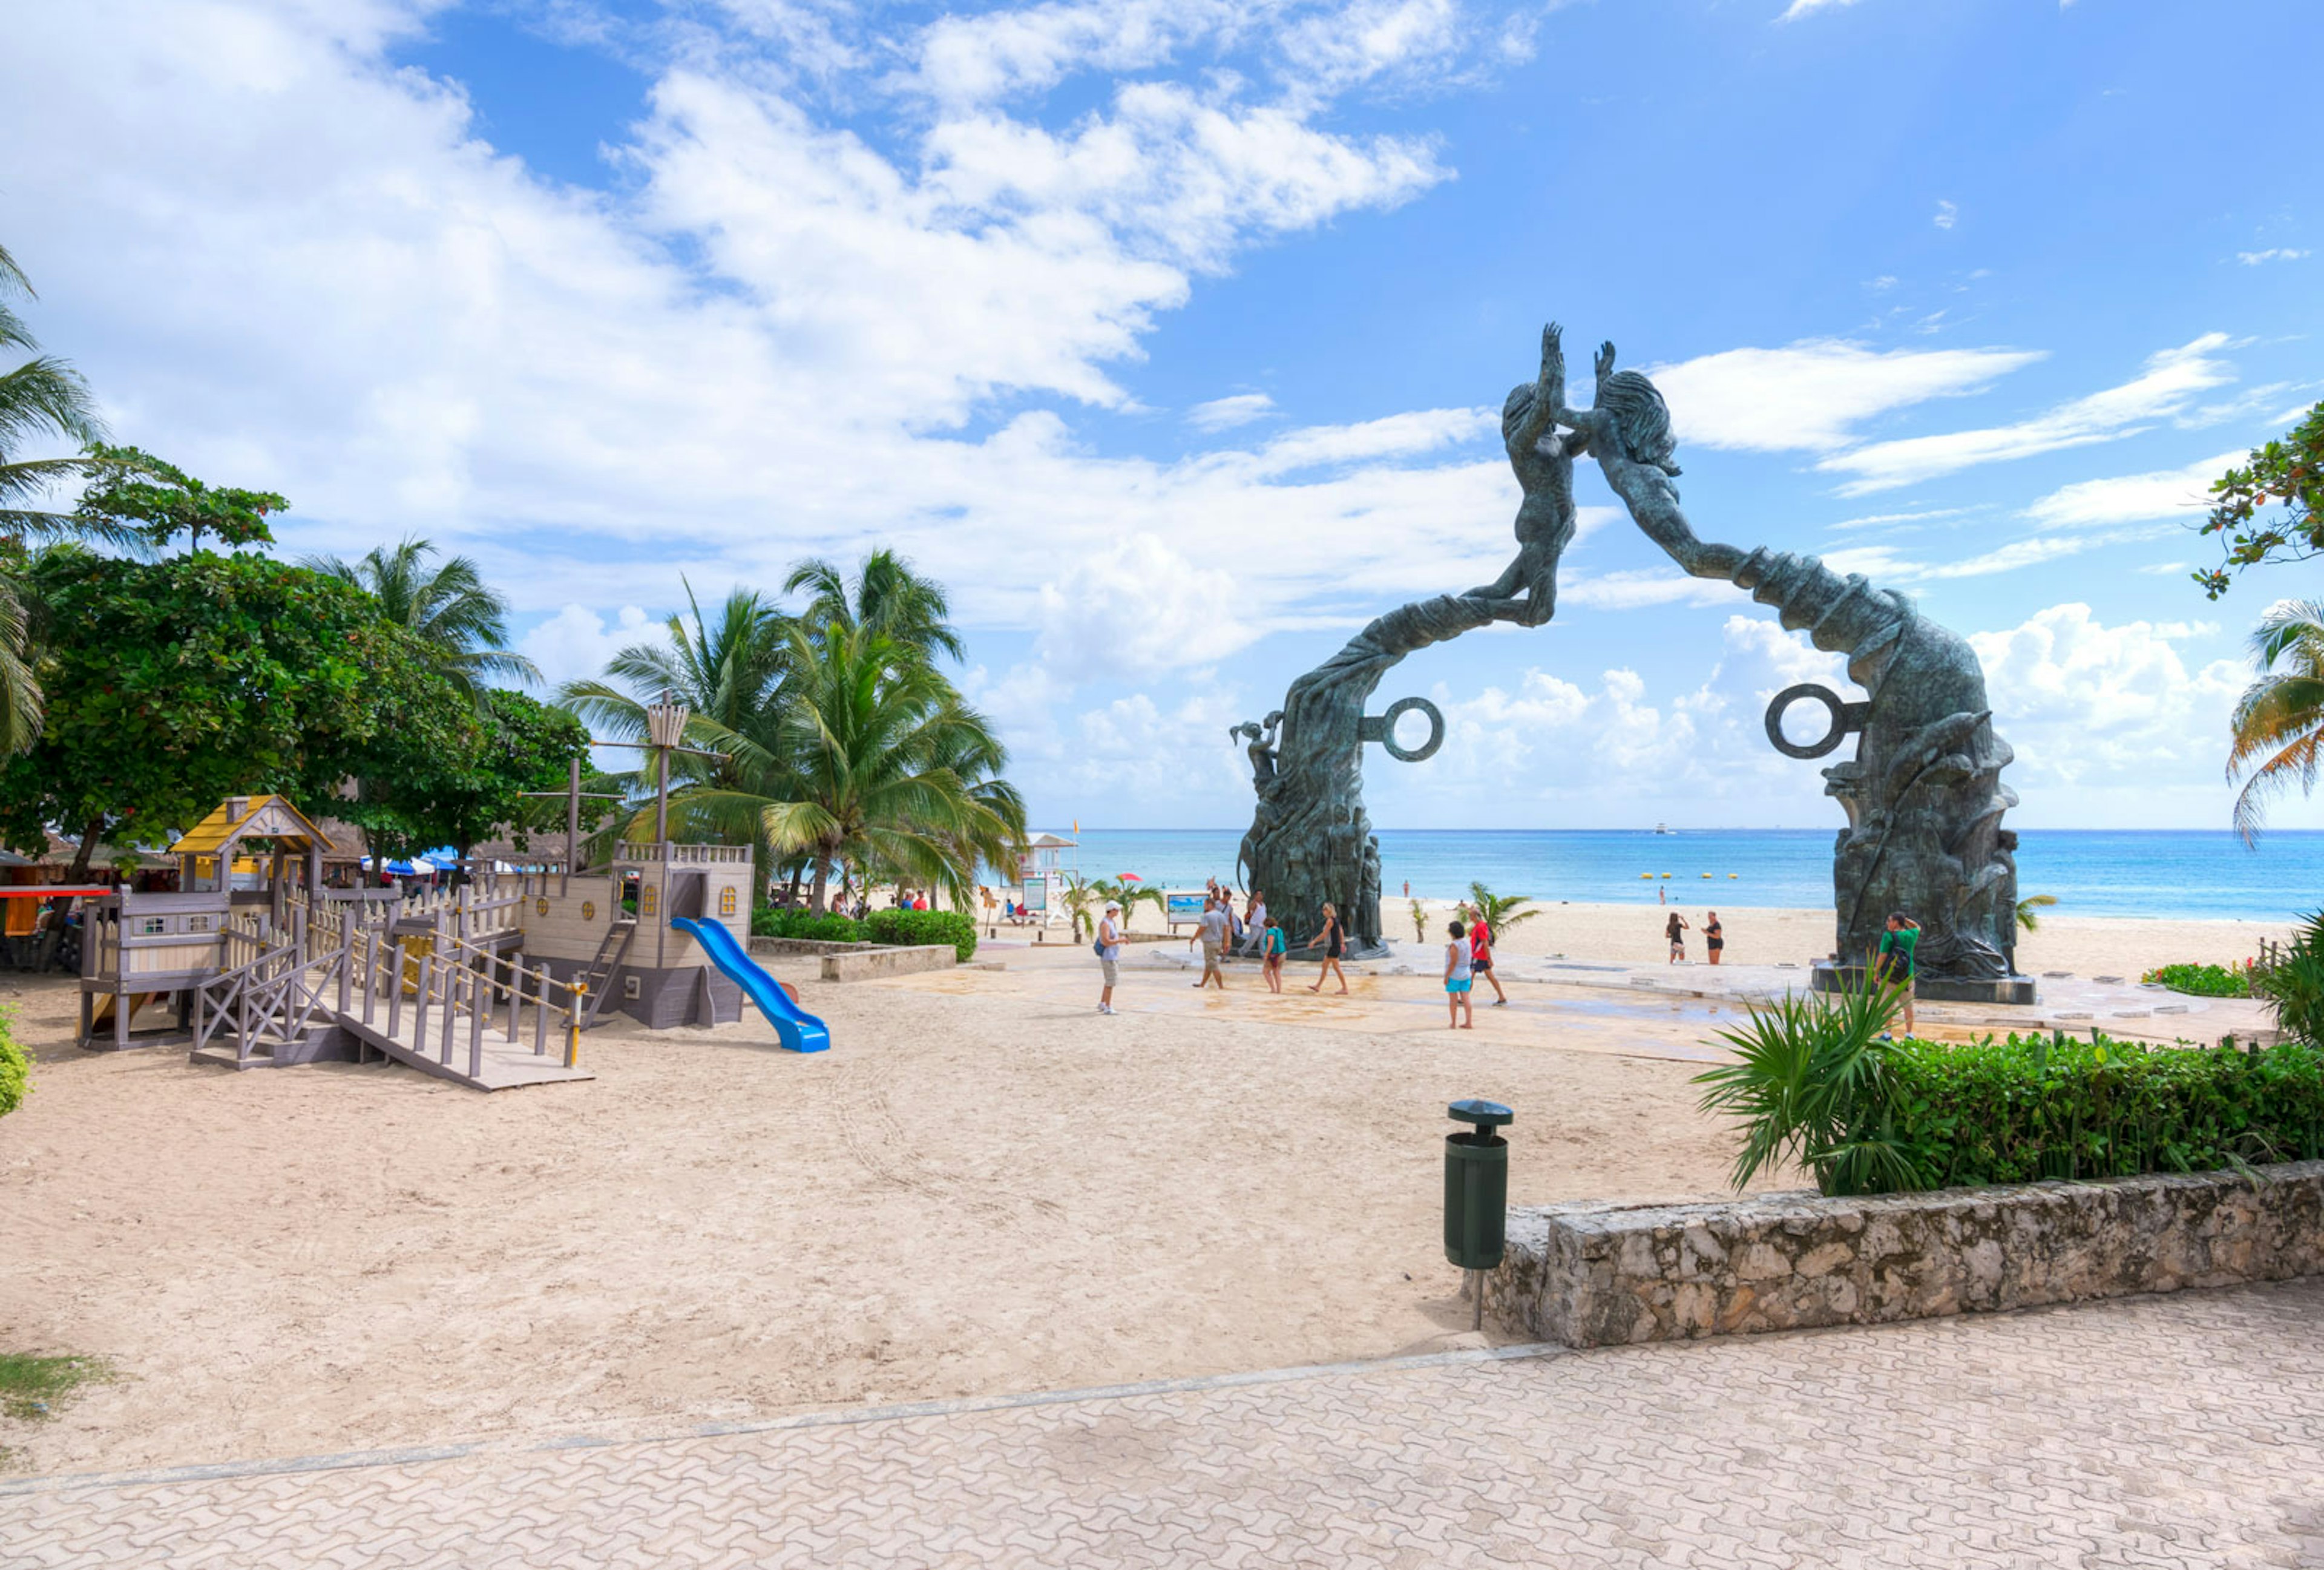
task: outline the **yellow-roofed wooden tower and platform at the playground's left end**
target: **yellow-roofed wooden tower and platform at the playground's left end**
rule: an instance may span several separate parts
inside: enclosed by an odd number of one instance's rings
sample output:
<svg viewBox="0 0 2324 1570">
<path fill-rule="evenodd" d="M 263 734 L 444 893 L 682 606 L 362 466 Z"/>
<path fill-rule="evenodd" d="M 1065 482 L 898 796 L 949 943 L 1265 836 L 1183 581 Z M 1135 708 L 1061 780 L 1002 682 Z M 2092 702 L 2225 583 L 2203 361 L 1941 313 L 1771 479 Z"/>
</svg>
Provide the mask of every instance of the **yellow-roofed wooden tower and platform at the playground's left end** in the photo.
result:
<svg viewBox="0 0 2324 1570">
<path fill-rule="evenodd" d="M 270 848 L 263 890 L 232 887 L 235 850 L 244 841 Z M 230 968 L 237 952 L 260 952 L 293 915 L 304 920 L 304 899 L 297 913 L 290 908 L 293 883 L 311 896 L 323 885 L 328 848 L 330 836 L 286 799 L 228 797 L 170 845 L 177 892 L 139 894 L 123 885 L 91 899 L 81 934 L 81 1045 L 116 1052 L 149 1045 L 153 1036 L 132 1043 L 130 1027 L 156 1006 L 170 1006 L 172 1029 L 186 1031 L 193 987 Z M 107 1022 L 112 1040 L 98 1040 Z"/>
</svg>

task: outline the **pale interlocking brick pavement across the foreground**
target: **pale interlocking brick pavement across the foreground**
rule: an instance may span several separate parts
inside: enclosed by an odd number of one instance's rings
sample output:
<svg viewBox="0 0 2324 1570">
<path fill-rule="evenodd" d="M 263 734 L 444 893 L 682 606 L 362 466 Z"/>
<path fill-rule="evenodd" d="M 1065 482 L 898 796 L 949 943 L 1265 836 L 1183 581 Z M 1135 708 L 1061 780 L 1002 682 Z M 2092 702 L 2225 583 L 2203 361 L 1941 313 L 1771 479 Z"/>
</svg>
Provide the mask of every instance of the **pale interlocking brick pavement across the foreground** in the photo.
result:
<svg viewBox="0 0 2324 1570">
<path fill-rule="evenodd" d="M 2324 1282 L 0 1486 L 19 1565 L 2324 1565 Z M 302 1470 L 304 1468 L 304 1470 Z"/>
</svg>

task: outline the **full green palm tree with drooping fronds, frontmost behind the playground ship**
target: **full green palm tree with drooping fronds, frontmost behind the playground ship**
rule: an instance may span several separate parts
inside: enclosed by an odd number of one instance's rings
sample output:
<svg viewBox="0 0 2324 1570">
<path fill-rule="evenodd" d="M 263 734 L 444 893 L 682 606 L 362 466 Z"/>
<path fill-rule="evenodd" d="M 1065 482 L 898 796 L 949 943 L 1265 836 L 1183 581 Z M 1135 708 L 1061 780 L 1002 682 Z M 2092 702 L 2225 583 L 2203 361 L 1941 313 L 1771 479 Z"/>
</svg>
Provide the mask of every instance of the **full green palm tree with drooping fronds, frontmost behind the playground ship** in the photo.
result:
<svg viewBox="0 0 2324 1570">
<path fill-rule="evenodd" d="M 992 766 L 1006 757 L 983 715 L 920 657 L 867 627 L 827 622 L 811 634 L 795 622 L 786 646 L 781 701 L 748 727 L 697 720 L 739 783 L 693 787 L 683 808 L 706 822 L 751 822 L 776 855 L 809 852 L 818 913 L 841 864 L 941 885 L 964 903 L 976 878 L 976 855 L 964 848 L 1023 836 L 1002 806 L 1013 790 L 978 794 L 955 771 L 967 757 Z"/>
</svg>

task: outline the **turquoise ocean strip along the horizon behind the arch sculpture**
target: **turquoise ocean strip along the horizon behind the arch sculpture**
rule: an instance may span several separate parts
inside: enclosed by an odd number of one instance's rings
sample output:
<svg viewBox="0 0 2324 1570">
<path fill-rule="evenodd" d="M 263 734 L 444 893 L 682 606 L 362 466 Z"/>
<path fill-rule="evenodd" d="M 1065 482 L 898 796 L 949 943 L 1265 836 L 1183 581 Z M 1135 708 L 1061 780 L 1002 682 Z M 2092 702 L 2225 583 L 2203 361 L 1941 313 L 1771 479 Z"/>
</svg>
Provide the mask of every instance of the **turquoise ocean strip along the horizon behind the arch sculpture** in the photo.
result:
<svg viewBox="0 0 2324 1570">
<path fill-rule="evenodd" d="M 1083 829 L 1085 878 L 1136 873 L 1199 890 L 1234 880 L 1241 829 Z M 1380 829 L 1380 887 L 1452 899 L 1499 894 L 1687 906 L 1831 903 L 1829 829 Z M 2205 915 L 2280 922 L 2324 906 L 2324 831 L 2266 834 L 2247 850 L 2210 829 L 2024 829 L 2017 892 L 2054 894 L 2059 915 Z M 1641 878 L 1641 873 L 1645 873 Z M 1662 873 L 1669 873 L 1664 880 Z M 1706 876 L 1708 873 L 1708 876 Z"/>
</svg>

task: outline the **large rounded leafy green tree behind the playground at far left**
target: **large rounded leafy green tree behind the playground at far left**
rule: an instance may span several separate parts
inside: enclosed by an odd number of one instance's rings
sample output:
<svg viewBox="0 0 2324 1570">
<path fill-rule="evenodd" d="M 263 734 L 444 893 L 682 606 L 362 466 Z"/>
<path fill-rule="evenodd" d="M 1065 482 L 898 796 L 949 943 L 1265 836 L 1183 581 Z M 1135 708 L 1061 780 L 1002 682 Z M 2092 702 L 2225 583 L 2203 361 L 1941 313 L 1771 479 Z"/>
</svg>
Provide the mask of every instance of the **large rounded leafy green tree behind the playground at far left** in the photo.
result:
<svg viewBox="0 0 2324 1570">
<path fill-rule="evenodd" d="M 232 794 L 339 811 L 349 776 L 476 746 L 474 708 L 432 653 L 323 574 L 256 553 L 51 546 L 26 583 L 49 715 L 0 766 L 0 836 L 35 850 L 51 822 L 79 829 L 74 878 L 98 841 L 165 841 Z"/>
</svg>

